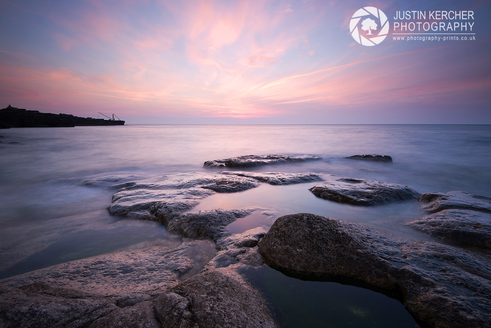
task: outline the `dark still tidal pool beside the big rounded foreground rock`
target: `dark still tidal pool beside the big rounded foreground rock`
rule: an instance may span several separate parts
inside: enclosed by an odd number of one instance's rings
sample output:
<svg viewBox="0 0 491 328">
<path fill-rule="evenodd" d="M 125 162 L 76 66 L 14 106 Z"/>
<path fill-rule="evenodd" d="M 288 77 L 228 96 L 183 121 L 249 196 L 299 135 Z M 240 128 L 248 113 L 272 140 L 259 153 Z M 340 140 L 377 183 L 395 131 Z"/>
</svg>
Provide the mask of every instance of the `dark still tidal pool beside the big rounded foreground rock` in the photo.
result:
<svg viewBox="0 0 491 328">
<path fill-rule="evenodd" d="M 420 327 L 400 301 L 369 289 L 300 280 L 267 265 L 241 273 L 261 291 L 283 328 Z"/>
</svg>

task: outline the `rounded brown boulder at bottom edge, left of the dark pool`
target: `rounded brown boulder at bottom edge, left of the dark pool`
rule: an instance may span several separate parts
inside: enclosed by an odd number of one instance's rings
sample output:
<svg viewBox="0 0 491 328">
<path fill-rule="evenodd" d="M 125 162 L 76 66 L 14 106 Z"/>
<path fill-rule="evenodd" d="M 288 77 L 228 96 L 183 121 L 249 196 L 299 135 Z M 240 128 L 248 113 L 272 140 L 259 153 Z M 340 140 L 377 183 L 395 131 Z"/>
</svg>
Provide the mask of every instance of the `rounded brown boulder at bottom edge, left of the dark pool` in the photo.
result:
<svg viewBox="0 0 491 328">
<path fill-rule="evenodd" d="M 197 274 L 154 302 L 164 327 L 276 327 L 255 291 L 217 271 Z"/>
</svg>

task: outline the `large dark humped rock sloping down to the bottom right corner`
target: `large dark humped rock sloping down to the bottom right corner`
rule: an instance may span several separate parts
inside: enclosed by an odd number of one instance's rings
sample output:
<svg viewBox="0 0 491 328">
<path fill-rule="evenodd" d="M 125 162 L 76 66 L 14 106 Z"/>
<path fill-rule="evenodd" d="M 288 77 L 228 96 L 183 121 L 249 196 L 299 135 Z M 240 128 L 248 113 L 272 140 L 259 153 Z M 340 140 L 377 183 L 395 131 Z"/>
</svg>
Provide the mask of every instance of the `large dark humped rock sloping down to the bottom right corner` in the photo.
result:
<svg viewBox="0 0 491 328">
<path fill-rule="evenodd" d="M 382 291 L 432 327 L 491 325 L 490 255 L 306 213 L 277 219 L 258 246 L 287 274 Z"/>
</svg>

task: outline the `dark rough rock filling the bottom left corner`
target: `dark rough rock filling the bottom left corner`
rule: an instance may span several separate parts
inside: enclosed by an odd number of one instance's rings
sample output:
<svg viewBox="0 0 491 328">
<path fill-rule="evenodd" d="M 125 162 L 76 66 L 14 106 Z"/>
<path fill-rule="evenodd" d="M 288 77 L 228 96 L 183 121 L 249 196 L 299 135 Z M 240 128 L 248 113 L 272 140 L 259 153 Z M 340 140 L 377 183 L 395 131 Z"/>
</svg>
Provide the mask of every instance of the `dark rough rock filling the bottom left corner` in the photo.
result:
<svg viewBox="0 0 491 328">
<path fill-rule="evenodd" d="M 0 327 L 87 327 L 117 309 L 108 299 L 66 299 L 0 285 Z"/>
</svg>

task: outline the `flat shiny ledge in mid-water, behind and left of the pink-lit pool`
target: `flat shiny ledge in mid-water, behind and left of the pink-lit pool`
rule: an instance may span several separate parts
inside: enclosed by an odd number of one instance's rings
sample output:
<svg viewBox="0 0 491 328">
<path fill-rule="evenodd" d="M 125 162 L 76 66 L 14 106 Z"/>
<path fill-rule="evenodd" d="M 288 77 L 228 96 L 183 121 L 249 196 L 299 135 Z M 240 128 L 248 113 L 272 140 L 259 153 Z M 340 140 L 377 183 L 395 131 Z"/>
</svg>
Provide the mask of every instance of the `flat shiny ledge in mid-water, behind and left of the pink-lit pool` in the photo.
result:
<svg viewBox="0 0 491 328">
<path fill-rule="evenodd" d="M 87 179 L 80 180 L 85 183 Z M 245 191 L 262 183 L 291 185 L 323 180 L 323 176 L 316 173 L 190 172 L 162 176 L 152 181 L 126 181 L 106 188 L 117 190 L 120 187 L 112 196 L 110 214 L 168 225 L 198 205 L 201 199 L 217 192 Z"/>
</svg>

